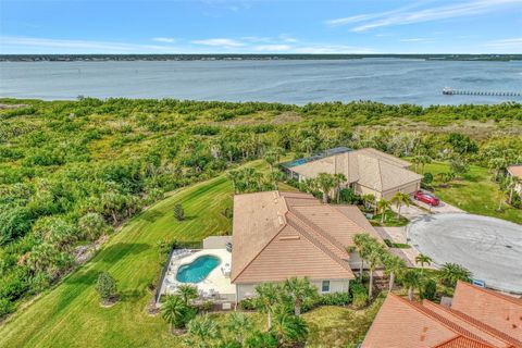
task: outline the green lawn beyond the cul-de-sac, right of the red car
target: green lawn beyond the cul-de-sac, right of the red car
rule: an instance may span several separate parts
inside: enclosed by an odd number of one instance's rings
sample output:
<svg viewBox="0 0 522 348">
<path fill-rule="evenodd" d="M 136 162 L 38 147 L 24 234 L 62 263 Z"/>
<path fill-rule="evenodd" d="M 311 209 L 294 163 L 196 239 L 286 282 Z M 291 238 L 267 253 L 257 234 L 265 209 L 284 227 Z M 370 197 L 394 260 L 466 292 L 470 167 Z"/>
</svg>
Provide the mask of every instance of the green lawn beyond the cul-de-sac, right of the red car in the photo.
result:
<svg viewBox="0 0 522 348">
<path fill-rule="evenodd" d="M 469 213 L 505 219 L 522 224 L 522 210 L 506 203 L 506 195 L 497 183 L 492 182 L 487 169 L 471 165 L 469 173 L 461 179 L 449 183 L 448 187 L 439 187 L 438 173 L 449 172 L 446 163 L 434 162 L 426 165 L 425 172 L 435 177 L 435 195 L 442 200 L 456 206 Z M 500 203 L 501 211 L 497 211 Z"/>
</svg>

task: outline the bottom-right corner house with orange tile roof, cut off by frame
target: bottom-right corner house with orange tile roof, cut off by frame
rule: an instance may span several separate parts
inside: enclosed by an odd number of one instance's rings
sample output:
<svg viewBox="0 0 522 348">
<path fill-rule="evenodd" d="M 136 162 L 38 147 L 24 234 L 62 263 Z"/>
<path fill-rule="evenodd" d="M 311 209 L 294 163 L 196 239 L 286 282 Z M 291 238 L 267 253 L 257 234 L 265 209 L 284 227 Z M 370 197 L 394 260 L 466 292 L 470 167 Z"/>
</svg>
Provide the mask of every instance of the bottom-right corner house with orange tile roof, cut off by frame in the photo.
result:
<svg viewBox="0 0 522 348">
<path fill-rule="evenodd" d="M 450 307 L 388 294 L 362 348 L 522 347 L 522 300 L 459 282 Z"/>
</svg>

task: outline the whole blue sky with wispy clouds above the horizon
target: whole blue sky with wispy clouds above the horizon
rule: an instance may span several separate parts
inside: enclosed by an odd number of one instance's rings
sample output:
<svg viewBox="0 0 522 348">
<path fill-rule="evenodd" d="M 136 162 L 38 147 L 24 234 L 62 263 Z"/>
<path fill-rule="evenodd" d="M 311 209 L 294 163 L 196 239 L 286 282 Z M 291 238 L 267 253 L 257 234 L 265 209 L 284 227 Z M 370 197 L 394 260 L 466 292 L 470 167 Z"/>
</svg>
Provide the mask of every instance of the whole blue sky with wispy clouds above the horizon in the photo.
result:
<svg viewBox="0 0 522 348">
<path fill-rule="evenodd" d="M 522 53 L 522 0 L 0 0 L 0 53 Z"/>
</svg>

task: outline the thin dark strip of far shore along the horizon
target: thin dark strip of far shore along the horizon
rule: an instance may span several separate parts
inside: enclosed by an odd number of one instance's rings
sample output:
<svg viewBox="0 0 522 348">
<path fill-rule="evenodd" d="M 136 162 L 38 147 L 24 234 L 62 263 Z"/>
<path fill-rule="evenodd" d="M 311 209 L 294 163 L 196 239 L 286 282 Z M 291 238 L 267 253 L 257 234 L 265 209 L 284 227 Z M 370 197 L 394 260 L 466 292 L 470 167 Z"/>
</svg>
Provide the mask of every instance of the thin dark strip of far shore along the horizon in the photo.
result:
<svg viewBox="0 0 522 348">
<path fill-rule="evenodd" d="M 521 61 L 522 54 L 0 54 L 0 62 L 352 60 Z"/>
</svg>

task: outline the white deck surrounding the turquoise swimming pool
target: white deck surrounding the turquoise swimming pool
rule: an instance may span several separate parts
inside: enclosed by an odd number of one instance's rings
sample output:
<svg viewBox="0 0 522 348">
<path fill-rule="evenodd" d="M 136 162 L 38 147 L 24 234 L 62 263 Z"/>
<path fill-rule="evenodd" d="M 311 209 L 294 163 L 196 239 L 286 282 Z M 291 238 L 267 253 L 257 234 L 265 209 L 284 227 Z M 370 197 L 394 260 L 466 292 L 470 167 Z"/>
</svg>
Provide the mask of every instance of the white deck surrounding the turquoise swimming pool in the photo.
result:
<svg viewBox="0 0 522 348">
<path fill-rule="evenodd" d="M 202 256 L 213 256 L 217 257 L 221 260 L 221 263 L 212 270 L 207 278 L 199 283 L 181 283 L 176 281 L 177 269 L 184 264 L 191 263 L 197 258 Z M 172 295 L 175 294 L 175 287 L 182 284 L 195 285 L 198 288 L 198 291 L 203 295 L 203 299 L 209 300 L 234 300 L 236 294 L 236 286 L 231 283 L 229 276 L 225 275 L 222 271 L 222 268 L 228 263 L 232 263 L 232 253 L 226 249 L 202 249 L 202 250 L 192 250 L 192 252 L 187 256 L 175 259 L 174 257 L 169 260 L 170 271 L 165 274 L 163 284 L 161 285 L 160 294 L 162 295 Z M 214 291 L 217 295 L 210 296 Z"/>
</svg>

